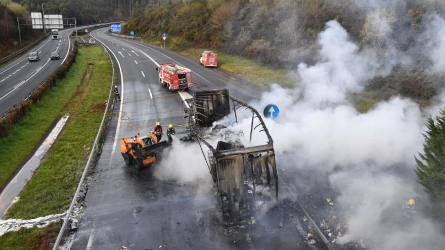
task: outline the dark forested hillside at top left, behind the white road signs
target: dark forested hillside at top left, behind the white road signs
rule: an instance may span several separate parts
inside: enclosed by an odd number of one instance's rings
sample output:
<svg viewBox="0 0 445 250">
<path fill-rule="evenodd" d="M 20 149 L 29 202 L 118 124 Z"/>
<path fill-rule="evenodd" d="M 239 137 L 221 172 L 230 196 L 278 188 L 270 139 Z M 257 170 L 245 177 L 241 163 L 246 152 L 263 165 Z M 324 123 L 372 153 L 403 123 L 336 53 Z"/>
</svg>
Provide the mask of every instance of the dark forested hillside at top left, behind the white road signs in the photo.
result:
<svg viewBox="0 0 445 250">
<path fill-rule="evenodd" d="M 162 6 L 168 0 L 0 0 L 0 58 L 20 48 L 17 31 L 17 17 L 30 19 L 30 12 L 61 14 L 76 18 L 77 25 L 99 22 L 120 21 L 139 16 L 146 8 Z M 29 20 L 28 20 L 29 21 Z M 42 35 L 41 30 L 33 31 L 30 26 L 21 26 L 24 44 Z"/>
</svg>

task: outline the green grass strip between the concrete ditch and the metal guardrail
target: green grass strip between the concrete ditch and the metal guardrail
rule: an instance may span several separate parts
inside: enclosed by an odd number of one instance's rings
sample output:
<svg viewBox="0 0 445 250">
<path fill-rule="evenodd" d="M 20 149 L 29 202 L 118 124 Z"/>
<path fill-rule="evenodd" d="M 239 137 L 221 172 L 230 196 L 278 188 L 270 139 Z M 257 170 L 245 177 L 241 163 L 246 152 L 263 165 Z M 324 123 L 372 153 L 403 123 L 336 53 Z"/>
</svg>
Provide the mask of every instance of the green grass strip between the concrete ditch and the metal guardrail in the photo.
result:
<svg viewBox="0 0 445 250">
<path fill-rule="evenodd" d="M 87 70 L 85 79 L 90 80 L 85 80 L 80 85 L 80 79 L 85 69 Z M 105 108 L 105 99 L 110 88 L 110 80 L 111 65 L 103 48 L 99 46 L 79 47 L 76 63 L 66 78 L 58 82 L 58 88 L 69 85 L 70 92 L 75 92 L 75 96 L 65 108 L 55 109 L 51 112 L 51 114 L 54 113 L 53 117 L 70 113 L 70 119 L 46 159 L 24 188 L 19 201 L 8 211 L 7 218 L 31 219 L 62 213 L 68 209 L 85 166 L 83 145 L 91 146 L 92 140 L 97 134 Z M 57 92 L 57 90 L 54 91 Z M 52 94 L 54 95 L 54 93 Z M 50 94 L 45 96 L 49 99 L 48 105 L 58 107 L 59 102 L 67 102 L 69 99 L 55 98 L 51 101 L 51 97 Z M 33 108 L 31 112 L 35 112 L 35 110 L 37 107 Z M 45 115 L 46 113 L 42 113 L 40 116 Z M 27 116 L 28 114 L 24 119 L 27 119 Z M 40 116 L 36 115 L 35 119 Z M 48 123 L 51 124 L 52 121 Z M 35 124 L 37 121 L 32 119 L 27 123 L 30 127 Z M 16 135 L 20 135 L 20 132 L 17 130 Z M 26 136 L 21 136 L 26 138 Z M 36 141 L 39 141 L 39 138 Z M 21 148 L 22 142 L 23 140 L 19 140 L 14 145 Z"/>
</svg>

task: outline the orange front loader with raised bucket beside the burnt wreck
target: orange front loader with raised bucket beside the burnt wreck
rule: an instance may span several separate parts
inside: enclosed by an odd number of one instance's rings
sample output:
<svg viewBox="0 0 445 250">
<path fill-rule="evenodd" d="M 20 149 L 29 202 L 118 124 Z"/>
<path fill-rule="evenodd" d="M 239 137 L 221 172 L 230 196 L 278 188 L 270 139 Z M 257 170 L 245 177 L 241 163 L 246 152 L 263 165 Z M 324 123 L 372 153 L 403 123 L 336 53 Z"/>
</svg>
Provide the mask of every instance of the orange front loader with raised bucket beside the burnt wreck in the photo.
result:
<svg viewBox="0 0 445 250">
<path fill-rule="evenodd" d="M 141 137 L 122 138 L 119 144 L 125 164 L 127 166 L 135 164 L 138 170 L 155 163 L 157 160 L 156 152 L 170 146 L 170 142 L 166 140 L 158 141 L 154 133 Z"/>
</svg>

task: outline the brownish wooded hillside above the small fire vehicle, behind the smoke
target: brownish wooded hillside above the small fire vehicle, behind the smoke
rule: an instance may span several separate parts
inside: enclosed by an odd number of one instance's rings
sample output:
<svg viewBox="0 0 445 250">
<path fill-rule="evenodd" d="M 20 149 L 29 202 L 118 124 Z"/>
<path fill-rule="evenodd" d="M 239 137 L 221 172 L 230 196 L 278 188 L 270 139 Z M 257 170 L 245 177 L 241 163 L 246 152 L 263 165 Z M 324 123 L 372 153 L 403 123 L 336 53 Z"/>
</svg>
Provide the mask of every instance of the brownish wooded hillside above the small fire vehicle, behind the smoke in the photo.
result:
<svg viewBox="0 0 445 250">
<path fill-rule="evenodd" d="M 423 102 L 444 81 L 430 70 L 421 38 L 444 14 L 441 0 L 184 0 L 174 7 L 149 8 L 124 30 L 151 40 L 160 40 L 166 32 L 170 47 L 209 47 L 295 69 L 301 62 L 319 59 L 318 33 L 326 22 L 337 20 L 351 40 L 372 50 L 391 69 L 368 85 L 370 98 L 400 93 Z M 409 55 L 411 61 L 399 55 Z"/>
</svg>

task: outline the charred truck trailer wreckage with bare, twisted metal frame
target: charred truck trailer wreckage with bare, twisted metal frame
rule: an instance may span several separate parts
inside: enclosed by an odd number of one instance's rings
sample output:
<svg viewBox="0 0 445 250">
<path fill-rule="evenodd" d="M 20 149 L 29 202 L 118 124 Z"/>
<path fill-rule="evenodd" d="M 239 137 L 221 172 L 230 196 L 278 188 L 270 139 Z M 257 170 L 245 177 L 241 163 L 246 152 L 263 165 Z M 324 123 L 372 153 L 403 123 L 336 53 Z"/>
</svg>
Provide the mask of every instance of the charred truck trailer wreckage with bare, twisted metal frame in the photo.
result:
<svg viewBox="0 0 445 250">
<path fill-rule="evenodd" d="M 266 189 L 272 192 L 275 189 L 275 198 L 278 198 L 274 141 L 258 111 L 229 96 L 228 89 L 196 91 L 193 98 L 185 102 L 190 104 L 189 108 L 184 109 L 191 132 L 188 137 L 198 141 L 204 158 L 202 144 L 208 147 L 206 163 L 218 188 L 222 212 L 243 214 L 255 209 L 268 198 L 263 193 Z M 231 113 L 238 123 L 237 110 L 240 108 L 252 114 L 249 141 L 252 141 L 252 134 L 257 130 L 265 133 L 268 140 L 265 144 L 245 146 L 239 140 L 239 136 L 244 135 L 243 131 L 233 132 L 220 124 L 208 133 L 214 122 Z M 214 148 L 208 140 L 214 139 L 215 133 L 223 129 L 224 133 L 219 133 L 222 140 Z"/>
</svg>

